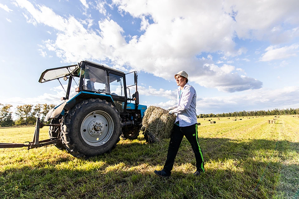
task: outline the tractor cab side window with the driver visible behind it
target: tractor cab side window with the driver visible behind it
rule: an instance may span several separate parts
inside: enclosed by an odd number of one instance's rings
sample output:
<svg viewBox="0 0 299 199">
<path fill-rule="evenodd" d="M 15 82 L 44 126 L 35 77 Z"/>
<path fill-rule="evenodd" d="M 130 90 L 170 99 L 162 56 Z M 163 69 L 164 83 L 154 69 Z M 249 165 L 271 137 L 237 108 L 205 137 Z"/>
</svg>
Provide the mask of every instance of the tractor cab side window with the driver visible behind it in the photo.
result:
<svg viewBox="0 0 299 199">
<path fill-rule="evenodd" d="M 84 89 L 101 93 L 109 93 L 107 82 L 107 72 L 104 69 L 85 66 Z"/>
</svg>

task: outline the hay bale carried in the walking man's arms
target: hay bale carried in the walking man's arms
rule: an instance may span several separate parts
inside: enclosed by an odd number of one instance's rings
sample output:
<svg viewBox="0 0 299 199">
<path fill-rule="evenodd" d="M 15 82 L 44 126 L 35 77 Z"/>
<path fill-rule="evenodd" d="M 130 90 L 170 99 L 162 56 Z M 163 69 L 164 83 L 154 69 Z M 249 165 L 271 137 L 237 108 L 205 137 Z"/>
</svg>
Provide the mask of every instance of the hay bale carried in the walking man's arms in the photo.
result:
<svg viewBox="0 0 299 199">
<path fill-rule="evenodd" d="M 176 116 L 157 106 L 146 109 L 142 119 L 142 129 L 151 132 L 158 140 L 170 138 Z"/>
</svg>

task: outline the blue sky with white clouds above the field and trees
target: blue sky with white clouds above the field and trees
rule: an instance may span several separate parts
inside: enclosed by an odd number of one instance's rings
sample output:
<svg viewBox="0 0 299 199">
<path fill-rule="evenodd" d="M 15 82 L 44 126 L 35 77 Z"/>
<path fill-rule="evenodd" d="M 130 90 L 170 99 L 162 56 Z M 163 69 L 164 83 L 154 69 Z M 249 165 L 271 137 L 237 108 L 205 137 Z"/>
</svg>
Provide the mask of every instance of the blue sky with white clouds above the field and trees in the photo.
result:
<svg viewBox="0 0 299 199">
<path fill-rule="evenodd" d="M 298 7 L 298 0 L 1 0 L 0 103 L 60 104 L 59 82 L 39 83 L 40 74 L 90 60 L 137 71 L 147 106 L 177 104 L 174 74 L 184 70 L 197 114 L 298 108 Z"/>
</svg>

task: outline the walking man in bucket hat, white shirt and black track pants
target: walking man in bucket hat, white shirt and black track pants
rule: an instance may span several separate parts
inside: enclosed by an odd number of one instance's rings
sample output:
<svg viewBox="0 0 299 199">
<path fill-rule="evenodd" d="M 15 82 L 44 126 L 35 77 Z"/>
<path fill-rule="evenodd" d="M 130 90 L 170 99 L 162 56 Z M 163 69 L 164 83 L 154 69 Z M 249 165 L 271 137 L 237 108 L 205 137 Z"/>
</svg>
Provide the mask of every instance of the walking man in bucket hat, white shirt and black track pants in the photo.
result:
<svg viewBox="0 0 299 199">
<path fill-rule="evenodd" d="M 188 84 L 188 74 L 180 71 L 174 75 L 178 87 L 178 104 L 169 107 L 169 114 L 177 113 L 177 118 L 173 125 L 170 142 L 168 146 L 167 160 L 161 171 L 155 170 L 154 173 L 160 177 L 168 177 L 173 169 L 174 159 L 178 153 L 178 148 L 185 136 L 190 142 L 195 159 L 196 172 L 194 175 L 200 175 L 205 172 L 203 164 L 202 151 L 198 143 L 197 136 L 197 118 L 196 118 L 196 91 Z"/>
</svg>

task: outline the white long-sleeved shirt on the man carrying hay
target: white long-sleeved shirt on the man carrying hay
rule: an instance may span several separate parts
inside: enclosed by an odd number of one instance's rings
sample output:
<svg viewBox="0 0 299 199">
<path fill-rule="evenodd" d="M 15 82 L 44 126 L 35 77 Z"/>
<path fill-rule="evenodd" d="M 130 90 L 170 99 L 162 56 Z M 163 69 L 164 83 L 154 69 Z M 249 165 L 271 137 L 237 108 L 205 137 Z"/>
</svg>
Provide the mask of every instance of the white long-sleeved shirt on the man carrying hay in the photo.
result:
<svg viewBox="0 0 299 199">
<path fill-rule="evenodd" d="M 175 119 L 175 123 L 179 121 L 180 127 L 187 127 L 192 124 L 197 123 L 196 118 L 196 91 L 190 86 L 188 83 L 185 84 L 181 95 L 181 88 L 178 87 L 178 104 L 169 107 L 169 109 L 173 109 L 171 112 L 177 113 L 177 118 Z"/>
</svg>

